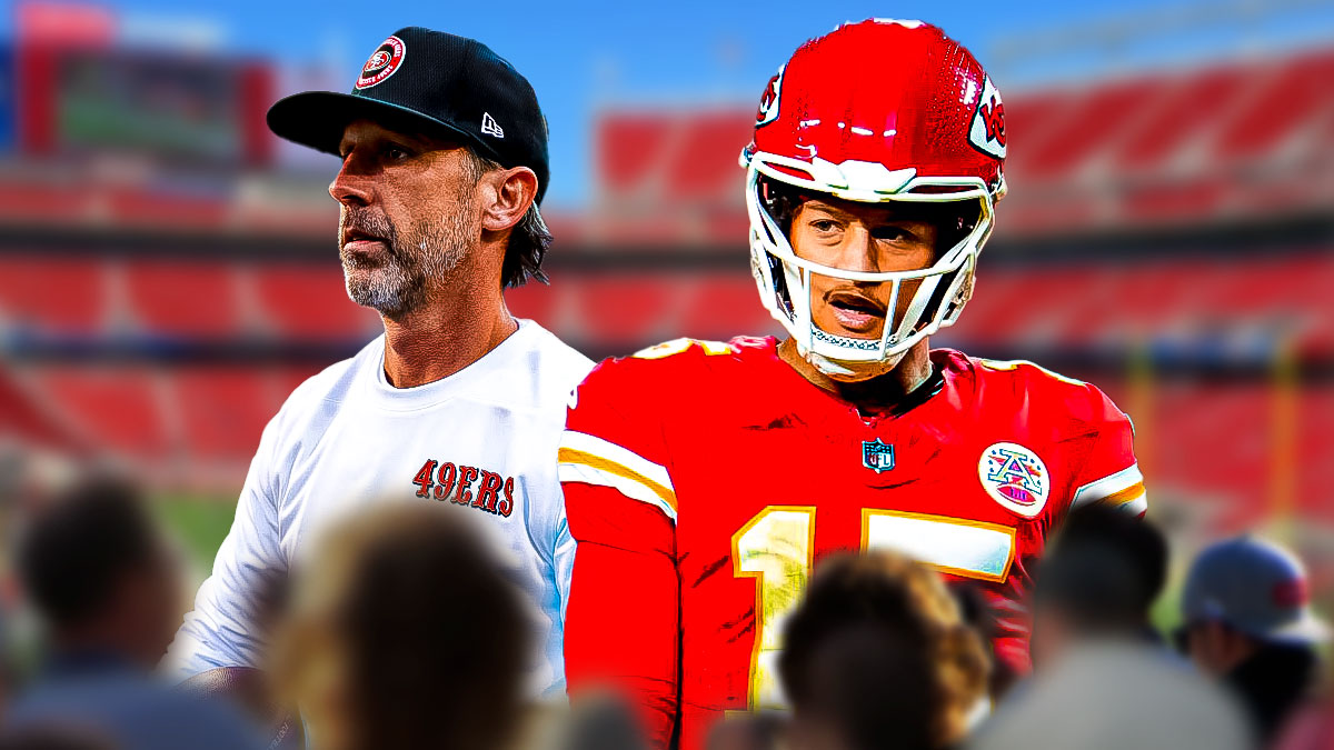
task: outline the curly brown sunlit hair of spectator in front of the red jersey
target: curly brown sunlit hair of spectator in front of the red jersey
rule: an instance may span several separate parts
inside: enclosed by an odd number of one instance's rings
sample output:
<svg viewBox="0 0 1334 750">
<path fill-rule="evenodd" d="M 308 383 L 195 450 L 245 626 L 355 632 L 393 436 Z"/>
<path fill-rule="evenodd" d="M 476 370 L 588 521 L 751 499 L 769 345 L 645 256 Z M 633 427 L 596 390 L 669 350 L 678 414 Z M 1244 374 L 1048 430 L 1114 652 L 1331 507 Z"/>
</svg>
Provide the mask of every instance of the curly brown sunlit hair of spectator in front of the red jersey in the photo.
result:
<svg viewBox="0 0 1334 750">
<path fill-rule="evenodd" d="M 939 575 L 888 551 L 824 560 L 779 657 L 796 715 L 831 721 L 858 750 L 958 742 L 988 670 Z"/>
</svg>

